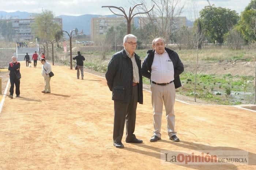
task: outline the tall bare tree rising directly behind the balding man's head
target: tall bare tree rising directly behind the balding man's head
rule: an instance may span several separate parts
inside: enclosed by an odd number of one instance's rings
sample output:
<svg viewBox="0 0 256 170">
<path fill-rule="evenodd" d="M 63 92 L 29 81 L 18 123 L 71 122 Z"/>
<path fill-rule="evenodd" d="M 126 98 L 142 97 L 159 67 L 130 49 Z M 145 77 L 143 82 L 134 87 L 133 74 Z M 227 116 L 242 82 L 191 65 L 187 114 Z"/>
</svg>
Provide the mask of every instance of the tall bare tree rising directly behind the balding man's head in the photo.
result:
<svg viewBox="0 0 256 170">
<path fill-rule="evenodd" d="M 132 2 L 142 3 L 142 5 L 138 6 L 142 11 L 148 11 L 153 4 L 155 5 L 152 12 L 146 14 L 147 18 L 142 17 L 140 19 L 144 25 L 150 24 L 158 28 L 158 30 L 151 32 L 152 38 L 162 36 L 166 40 L 166 43 L 169 42 L 177 19 L 184 9 L 185 2 L 182 0 L 151 0 L 150 5 L 147 0 L 132 0 Z"/>
</svg>

